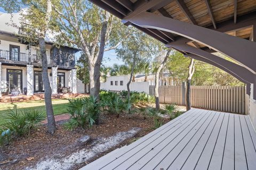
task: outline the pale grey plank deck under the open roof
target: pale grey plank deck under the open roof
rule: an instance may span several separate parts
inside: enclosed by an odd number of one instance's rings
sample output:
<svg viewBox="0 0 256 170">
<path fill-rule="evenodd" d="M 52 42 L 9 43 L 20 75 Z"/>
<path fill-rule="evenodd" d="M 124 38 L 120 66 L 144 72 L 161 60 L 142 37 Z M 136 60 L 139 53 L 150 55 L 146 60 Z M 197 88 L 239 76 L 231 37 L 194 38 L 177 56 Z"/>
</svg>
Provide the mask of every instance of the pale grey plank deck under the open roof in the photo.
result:
<svg viewBox="0 0 256 170">
<path fill-rule="evenodd" d="M 256 169 L 249 116 L 191 109 L 82 169 Z"/>
</svg>

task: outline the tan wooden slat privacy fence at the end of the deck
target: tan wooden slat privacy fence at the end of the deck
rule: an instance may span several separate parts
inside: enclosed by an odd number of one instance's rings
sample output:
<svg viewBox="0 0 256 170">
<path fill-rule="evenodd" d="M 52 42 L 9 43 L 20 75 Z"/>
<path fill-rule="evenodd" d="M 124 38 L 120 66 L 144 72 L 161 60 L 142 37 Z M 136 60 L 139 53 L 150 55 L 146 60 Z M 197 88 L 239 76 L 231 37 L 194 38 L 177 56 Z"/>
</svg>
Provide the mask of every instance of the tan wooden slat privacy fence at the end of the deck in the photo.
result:
<svg viewBox="0 0 256 170">
<path fill-rule="evenodd" d="M 155 86 L 149 87 L 154 95 Z M 159 101 L 163 104 L 186 105 L 186 87 L 159 86 Z M 244 86 L 191 86 L 191 106 L 214 111 L 247 114 Z"/>
</svg>

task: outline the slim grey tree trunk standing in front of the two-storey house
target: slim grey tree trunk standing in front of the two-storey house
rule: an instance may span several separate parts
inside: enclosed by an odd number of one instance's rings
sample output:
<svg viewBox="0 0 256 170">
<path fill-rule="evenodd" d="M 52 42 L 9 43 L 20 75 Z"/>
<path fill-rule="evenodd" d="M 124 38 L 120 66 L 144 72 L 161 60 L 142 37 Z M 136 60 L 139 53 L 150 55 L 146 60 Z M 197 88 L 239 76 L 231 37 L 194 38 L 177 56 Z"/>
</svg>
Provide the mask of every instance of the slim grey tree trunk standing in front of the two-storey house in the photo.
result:
<svg viewBox="0 0 256 170">
<path fill-rule="evenodd" d="M 39 38 L 38 40 L 40 52 L 41 52 L 41 60 L 42 60 L 42 78 L 44 84 L 44 101 L 45 101 L 45 110 L 47 114 L 47 131 L 53 134 L 56 131 L 55 119 L 53 115 L 52 109 L 52 90 L 50 86 L 50 81 L 48 77 L 48 63 L 47 63 L 47 55 L 45 49 L 45 40 L 44 38 Z"/>
</svg>

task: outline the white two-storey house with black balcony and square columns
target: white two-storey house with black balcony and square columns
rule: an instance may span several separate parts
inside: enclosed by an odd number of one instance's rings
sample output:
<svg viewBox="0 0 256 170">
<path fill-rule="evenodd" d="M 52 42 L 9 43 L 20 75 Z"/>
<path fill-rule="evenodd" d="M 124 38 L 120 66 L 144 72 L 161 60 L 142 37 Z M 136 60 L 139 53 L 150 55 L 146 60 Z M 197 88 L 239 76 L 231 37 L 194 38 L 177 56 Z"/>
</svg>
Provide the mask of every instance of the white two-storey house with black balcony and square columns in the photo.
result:
<svg viewBox="0 0 256 170">
<path fill-rule="evenodd" d="M 12 21 L 19 25 L 20 14 L 12 15 Z M 6 24 L 10 20 L 11 14 L 0 13 L 1 92 L 18 90 L 20 94 L 27 95 L 44 92 L 40 50 L 23 42 L 19 38 L 21 29 Z M 53 45 L 52 37 L 49 33 L 45 37 L 52 94 L 57 94 L 63 87 L 77 93 L 75 53 L 78 49 L 66 46 L 57 48 Z"/>
</svg>

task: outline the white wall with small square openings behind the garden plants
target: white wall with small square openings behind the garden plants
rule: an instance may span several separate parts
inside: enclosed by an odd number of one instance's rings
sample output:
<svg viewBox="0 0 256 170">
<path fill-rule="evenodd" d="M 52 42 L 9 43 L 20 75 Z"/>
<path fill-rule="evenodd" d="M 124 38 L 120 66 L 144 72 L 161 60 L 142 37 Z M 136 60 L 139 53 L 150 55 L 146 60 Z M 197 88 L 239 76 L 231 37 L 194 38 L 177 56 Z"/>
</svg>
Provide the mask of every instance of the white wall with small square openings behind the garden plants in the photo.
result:
<svg viewBox="0 0 256 170">
<path fill-rule="evenodd" d="M 113 85 L 111 85 L 111 81 L 113 81 Z M 115 81 L 118 81 L 118 84 L 115 85 Z M 123 81 L 123 86 L 120 85 L 120 81 Z M 122 91 L 127 90 L 127 82 L 129 81 L 129 75 L 122 76 L 111 76 L 107 78 L 107 81 L 104 83 L 100 83 L 100 89 L 102 90 L 115 90 Z M 149 94 L 149 82 L 131 82 L 130 84 L 131 91 L 138 92 L 146 92 Z"/>
</svg>

